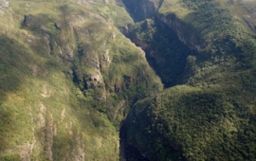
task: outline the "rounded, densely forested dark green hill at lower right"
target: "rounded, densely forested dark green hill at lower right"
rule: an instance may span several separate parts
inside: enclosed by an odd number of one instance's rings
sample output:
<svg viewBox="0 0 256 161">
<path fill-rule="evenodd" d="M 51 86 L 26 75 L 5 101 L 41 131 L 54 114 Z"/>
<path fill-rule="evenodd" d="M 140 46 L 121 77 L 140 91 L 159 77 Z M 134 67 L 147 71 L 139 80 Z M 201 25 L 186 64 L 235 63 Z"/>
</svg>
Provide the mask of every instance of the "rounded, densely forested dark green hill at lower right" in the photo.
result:
<svg viewBox="0 0 256 161">
<path fill-rule="evenodd" d="M 218 86 L 176 86 L 135 105 L 128 142 L 150 160 L 254 160 L 255 111 L 244 103 Z"/>
</svg>

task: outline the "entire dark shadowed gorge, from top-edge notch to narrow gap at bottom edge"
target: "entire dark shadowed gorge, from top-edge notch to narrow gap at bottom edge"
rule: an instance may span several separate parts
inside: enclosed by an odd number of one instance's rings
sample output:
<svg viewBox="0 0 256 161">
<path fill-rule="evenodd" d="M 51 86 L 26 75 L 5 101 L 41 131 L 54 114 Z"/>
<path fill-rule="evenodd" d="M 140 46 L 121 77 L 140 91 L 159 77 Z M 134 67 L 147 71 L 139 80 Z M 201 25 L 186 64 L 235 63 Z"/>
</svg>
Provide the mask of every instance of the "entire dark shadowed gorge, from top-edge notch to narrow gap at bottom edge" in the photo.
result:
<svg viewBox="0 0 256 161">
<path fill-rule="evenodd" d="M 173 28 L 168 27 L 156 16 L 155 6 L 150 1 L 123 0 L 123 3 L 137 23 L 122 27 L 120 31 L 144 50 L 147 62 L 155 70 L 165 88 L 183 83 L 188 75 L 187 58 L 196 52 L 184 45 Z M 162 3 L 163 0 L 159 1 L 157 9 Z M 149 161 L 146 153 L 140 153 L 135 145 L 128 143 L 126 128 L 121 126 L 119 130 L 120 160 Z"/>
</svg>

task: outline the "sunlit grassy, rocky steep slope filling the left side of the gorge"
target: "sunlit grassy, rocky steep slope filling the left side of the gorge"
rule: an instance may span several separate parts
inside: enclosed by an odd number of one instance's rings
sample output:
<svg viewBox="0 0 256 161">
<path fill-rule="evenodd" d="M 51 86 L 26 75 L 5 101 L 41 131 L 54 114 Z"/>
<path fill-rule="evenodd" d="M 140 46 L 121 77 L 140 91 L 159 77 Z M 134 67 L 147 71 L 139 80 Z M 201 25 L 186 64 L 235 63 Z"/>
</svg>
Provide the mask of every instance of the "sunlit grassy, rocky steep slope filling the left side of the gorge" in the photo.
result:
<svg viewBox="0 0 256 161">
<path fill-rule="evenodd" d="M 0 2 L 0 160 L 119 160 L 120 120 L 162 88 L 117 28 L 129 15 L 114 1 Z"/>
</svg>

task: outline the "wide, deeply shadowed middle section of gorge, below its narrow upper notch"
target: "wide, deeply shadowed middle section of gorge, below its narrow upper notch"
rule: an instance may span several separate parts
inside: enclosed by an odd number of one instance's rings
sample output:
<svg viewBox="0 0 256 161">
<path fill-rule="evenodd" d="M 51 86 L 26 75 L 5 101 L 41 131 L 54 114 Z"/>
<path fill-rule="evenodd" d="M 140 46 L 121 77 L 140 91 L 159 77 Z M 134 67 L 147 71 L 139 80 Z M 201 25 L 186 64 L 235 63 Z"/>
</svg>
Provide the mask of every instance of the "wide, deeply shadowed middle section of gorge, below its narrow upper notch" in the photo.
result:
<svg viewBox="0 0 256 161">
<path fill-rule="evenodd" d="M 184 45 L 172 28 L 155 17 L 122 31 L 145 51 L 148 63 L 165 88 L 184 81 L 187 57 L 195 51 Z"/>
</svg>

